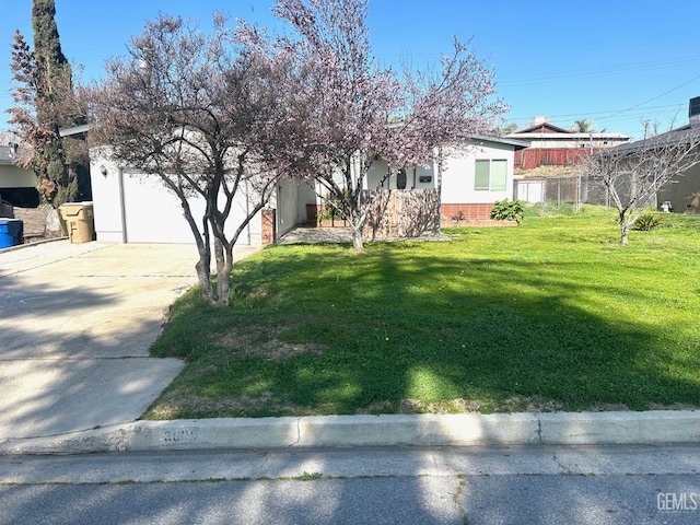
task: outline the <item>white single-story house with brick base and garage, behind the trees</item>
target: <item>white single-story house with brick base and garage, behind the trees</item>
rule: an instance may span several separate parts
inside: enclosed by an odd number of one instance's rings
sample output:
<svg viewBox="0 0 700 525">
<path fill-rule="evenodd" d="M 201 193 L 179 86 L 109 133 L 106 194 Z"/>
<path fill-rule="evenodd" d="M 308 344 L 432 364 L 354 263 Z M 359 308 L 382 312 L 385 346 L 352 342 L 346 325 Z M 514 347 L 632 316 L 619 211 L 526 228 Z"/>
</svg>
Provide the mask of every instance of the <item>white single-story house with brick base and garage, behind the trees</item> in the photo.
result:
<svg viewBox="0 0 700 525">
<path fill-rule="evenodd" d="M 526 145 L 513 139 L 476 137 L 467 147 L 448 155 L 441 174 L 436 165 L 430 165 L 397 171 L 387 176 L 388 164 L 377 161 L 369 173 L 365 188 L 436 189 L 440 175 L 443 219 L 488 220 L 497 200 L 513 198 L 514 152 Z M 158 176 L 118 166 L 100 150 L 91 151 L 90 171 L 98 241 L 194 242 L 179 200 Z M 269 208 L 276 211 L 273 237 L 279 238 L 298 225 L 308 224 L 310 213 L 315 214 L 323 206 L 324 199 L 319 195 L 322 191 L 317 183 L 281 180 L 269 202 Z M 232 225 L 237 225 L 246 217 L 249 206 L 246 194 L 242 192 L 232 211 Z M 201 217 L 202 210 L 203 201 L 195 199 L 194 215 Z M 264 213 L 259 215 L 249 222 L 238 240 L 240 245 L 260 246 L 264 237 L 269 237 L 269 232 L 264 232 Z"/>
</svg>

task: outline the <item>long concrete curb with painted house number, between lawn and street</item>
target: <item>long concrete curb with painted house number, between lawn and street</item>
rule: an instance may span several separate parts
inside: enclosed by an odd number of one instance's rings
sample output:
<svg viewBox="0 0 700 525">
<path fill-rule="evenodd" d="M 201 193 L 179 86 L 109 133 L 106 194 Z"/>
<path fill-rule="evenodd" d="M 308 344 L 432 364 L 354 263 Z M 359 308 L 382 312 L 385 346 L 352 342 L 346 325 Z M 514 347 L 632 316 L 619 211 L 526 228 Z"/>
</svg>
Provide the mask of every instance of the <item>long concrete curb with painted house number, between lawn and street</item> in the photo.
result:
<svg viewBox="0 0 700 525">
<path fill-rule="evenodd" d="M 700 411 L 385 415 L 137 421 L 8 440 L 0 454 L 699 442 Z"/>
</svg>

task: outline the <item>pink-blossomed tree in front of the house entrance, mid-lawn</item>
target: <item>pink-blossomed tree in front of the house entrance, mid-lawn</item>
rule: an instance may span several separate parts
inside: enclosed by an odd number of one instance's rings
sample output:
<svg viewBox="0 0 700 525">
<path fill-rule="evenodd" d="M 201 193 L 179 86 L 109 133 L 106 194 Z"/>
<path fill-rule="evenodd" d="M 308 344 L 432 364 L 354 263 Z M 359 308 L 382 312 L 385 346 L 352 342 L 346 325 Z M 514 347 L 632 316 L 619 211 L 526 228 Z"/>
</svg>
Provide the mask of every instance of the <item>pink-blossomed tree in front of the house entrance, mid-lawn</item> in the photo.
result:
<svg viewBox="0 0 700 525">
<path fill-rule="evenodd" d="M 399 170 L 441 161 L 446 148 L 492 129 L 505 106 L 490 98 L 492 73 L 457 40 L 434 74 L 378 68 L 366 0 L 278 0 L 273 13 L 289 22 L 289 35 L 266 40 L 245 31 L 258 46 L 293 55 L 304 71 L 304 109 L 291 139 L 303 150 L 304 175 L 326 189 L 362 250 L 373 163 Z"/>
</svg>

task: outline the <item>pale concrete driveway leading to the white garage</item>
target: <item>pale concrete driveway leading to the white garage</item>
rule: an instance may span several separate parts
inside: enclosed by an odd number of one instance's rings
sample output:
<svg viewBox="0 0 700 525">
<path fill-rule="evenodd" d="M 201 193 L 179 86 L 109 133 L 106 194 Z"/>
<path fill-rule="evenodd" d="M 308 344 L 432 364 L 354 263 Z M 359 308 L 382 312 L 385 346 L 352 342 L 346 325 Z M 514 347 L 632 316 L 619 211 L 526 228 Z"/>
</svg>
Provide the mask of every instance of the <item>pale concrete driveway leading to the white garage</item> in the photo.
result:
<svg viewBox="0 0 700 525">
<path fill-rule="evenodd" d="M 184 366 L 149 347 L 196 260 L 189 245 L 0 252 L 0 442 L 138 419 Z"/>
</svg>

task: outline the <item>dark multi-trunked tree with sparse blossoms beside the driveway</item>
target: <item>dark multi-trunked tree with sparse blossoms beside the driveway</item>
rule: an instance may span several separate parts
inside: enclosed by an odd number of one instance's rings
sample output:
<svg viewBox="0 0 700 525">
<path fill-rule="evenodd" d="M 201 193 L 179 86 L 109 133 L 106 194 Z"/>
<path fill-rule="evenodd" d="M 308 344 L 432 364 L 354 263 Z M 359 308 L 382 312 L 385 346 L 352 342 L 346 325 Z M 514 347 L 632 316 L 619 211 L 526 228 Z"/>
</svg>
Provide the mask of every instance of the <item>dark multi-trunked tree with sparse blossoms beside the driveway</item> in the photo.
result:
<svg viewBox="0 0 700 525">
<path fill-rule="evenodd" d="M 261 55 L 214 18 L 207 36 L 180 19 L 161 16 L 86 90 L 92 141 L 121 165 L 160 177 L 177 196 L 199 253 L 202 295 L 229 304 L 233 248 L 291 171 L 288 103 L 291 68 L 281 54 Z M 236 199 L 249 207 L 229 225 Z M 192 199 L 206 203 L 195 217 Z M 229 228 L 228 228 L 229 226 Z M 215 259 L 215 285 L 210 275 Z"/>
</svg>

